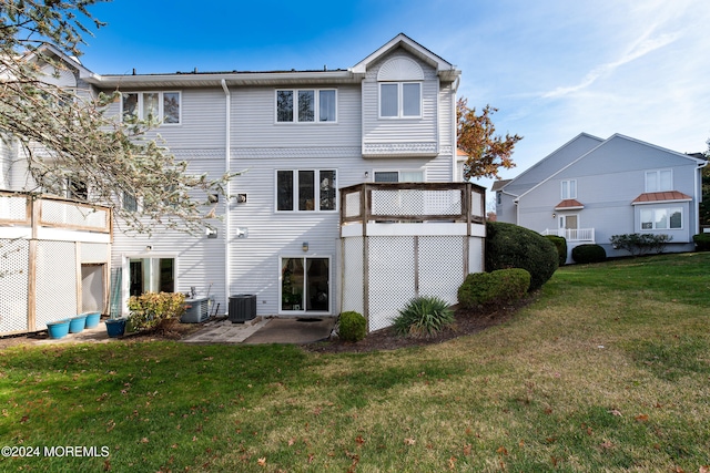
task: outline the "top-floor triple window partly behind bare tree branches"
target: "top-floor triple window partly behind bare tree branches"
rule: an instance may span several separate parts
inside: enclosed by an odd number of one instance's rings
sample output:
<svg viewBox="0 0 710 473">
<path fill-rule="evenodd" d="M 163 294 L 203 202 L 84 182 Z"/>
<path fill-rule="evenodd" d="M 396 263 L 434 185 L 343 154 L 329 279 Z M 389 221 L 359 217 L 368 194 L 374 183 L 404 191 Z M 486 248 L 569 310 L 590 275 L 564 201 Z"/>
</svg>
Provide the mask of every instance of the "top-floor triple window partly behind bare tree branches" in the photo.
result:
<svg viewBox="0 0 710 473">
<path fill-rule="evenodd" d="M 180 92 L 125 92 L 121 95 L 121 117 L 179 124 L 180 101 Z"/>
</svg>

